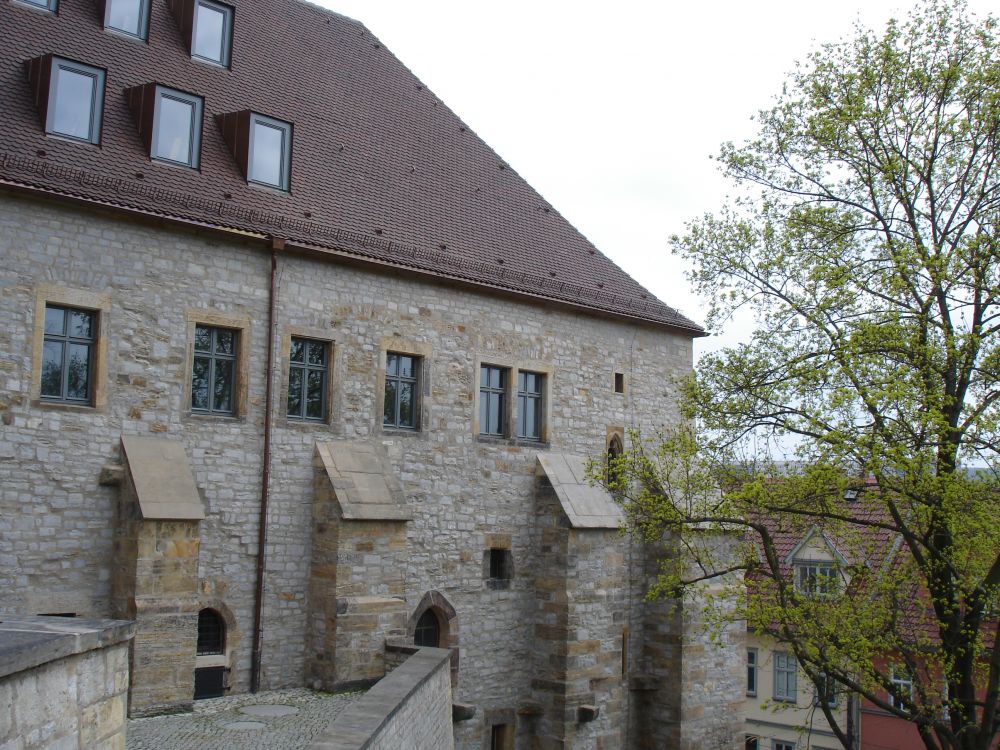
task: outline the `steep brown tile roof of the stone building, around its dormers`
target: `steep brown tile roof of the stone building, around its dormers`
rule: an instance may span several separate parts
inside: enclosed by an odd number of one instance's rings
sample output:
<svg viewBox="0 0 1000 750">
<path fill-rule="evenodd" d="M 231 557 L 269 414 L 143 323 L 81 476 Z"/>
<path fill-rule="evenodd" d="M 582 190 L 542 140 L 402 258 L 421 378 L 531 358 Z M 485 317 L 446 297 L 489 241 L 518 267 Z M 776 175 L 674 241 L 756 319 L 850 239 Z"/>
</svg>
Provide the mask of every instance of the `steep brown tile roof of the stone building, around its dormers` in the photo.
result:
<svg viewBox="0 0 1000 750">
<path fill-rule="evenodd" d="M 92 0 L 49 14 L 0 0 L 0 183 L 286 239 L 701 335 L 602 255 L 362 24 L 299 0 L 236 0 L 232 66 L 192 60 L 166 4 L 149 41 Z M 100 147 L 43 132 L 24 62 L 107 69 Z M 201 167 L 150 161 L 125 90 L 205 99 Z M 294 124 L 291 192 L 247 185 L 216 115 Z M 502 263 L 501 263 L 502 261 Z"/>
</svg>

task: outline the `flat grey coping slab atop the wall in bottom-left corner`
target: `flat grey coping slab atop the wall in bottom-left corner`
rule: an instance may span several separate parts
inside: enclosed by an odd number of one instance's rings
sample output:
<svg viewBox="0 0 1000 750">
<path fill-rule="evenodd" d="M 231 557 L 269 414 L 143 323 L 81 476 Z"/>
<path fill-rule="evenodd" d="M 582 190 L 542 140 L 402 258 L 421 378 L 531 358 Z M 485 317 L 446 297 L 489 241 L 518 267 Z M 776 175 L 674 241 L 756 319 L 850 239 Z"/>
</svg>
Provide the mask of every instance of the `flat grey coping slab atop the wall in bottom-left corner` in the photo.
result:
<svg viewBox="0 0 1000 750">
<path fill-rule="evenodd" d="M 135 623 L 129 620 L 0 616 L 0 679 L 134 635 Z"/>
</svg>

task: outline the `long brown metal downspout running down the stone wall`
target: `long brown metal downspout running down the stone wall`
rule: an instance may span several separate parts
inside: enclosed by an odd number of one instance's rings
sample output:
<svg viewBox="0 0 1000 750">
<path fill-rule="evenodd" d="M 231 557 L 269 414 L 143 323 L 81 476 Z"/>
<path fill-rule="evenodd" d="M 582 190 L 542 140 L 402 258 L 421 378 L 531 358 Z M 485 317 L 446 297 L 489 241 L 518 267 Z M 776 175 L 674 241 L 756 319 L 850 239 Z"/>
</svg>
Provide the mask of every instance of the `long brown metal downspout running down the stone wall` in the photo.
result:
<svg viewBox="0 0 1000 750">
<path fill-rule="evenodd" d="M 260 479 L 260 521 L 257 530 L 257 587 L 254 592 L 253 653 L 250 667 L 250 692 L 260 690 L 261 641 L 263 640 L 264 571 L 267 550 L 267 505 L 271 486 L 271 406 L 274 390 L 274 317 L 277 304 L 278 251 L 285 241 L 271 238 L 271 286 L 267 298 L 267 381 L 264 390 L 264 455 Z"/>
</svg>

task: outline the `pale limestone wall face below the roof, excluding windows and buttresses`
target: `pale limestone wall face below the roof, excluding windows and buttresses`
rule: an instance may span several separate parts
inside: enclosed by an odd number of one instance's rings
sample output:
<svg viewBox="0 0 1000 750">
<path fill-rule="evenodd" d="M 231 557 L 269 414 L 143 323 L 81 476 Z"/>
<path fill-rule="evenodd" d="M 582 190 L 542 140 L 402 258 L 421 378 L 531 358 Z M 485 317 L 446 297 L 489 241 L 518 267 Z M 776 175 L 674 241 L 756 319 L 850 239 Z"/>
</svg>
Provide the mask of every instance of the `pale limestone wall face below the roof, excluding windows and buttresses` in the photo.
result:
<svg viewBox="0 0 1000 750">
<path fill-rule="evenodd" d="M 0 202 L 0 253 L 0 611 L 110 614 L 119 488 L 99 484 L 101 469 L 121 461 L 123 433 L 177 439 L 206 512 L 199 606 L 218 602 L 231 613 L 239 644 L 231 682 L 234 691 L 246 690 L 268 253 L 249 240 L 7 196 Z M 536 578 L 546 574 L 536 531 L 536 454 L 601 455 L 611 426 L 651 430 L 676 419 L 671 376 L 690 369 L 690 339 L 401 270 L 373 273 L 294 255 L 282 255 L 278 265 L 262 687 L 300 685 L 307 677 L 315 444 L 364 441 L 388 457 L 413 517 L 403 524 L 406 554 L 395 570 L 400 593 L 390 596 L 411 615 L 427 592 L 440 592 L 454 607 L 460 633 L 456 699 L 477 706 L 478 717 L 519 711 L 537 678 Z M 107 342 L 106 403 L 98 408 L 31 397 L 38 378 L 32 370 L 33 311 L 39 295 L 58 297 L 60 290 L 109 298 L 100 320 Z M 190 413 L 190 348 L 198 320 L 240 330 L 247 356 L 234 417 Z M 293 335 L 331 342 L 327 423 L 284 416 Z M 382 428 L 386 351 L 422 357 L 418 431 Z M 474 432 L 480 362 L 547 373 L 546 443 L 486 440 Z M 625 376 L 625 393 L 614 390 L 616 372 Z M 496 538 L 510 540 L 515 570 L 500 589 L 483 572 L 484 551 Z M 615 545 L 613 564 L 620 567 L 624 553 L 617 539 Z M 362 566 L 382 564 L 377 555 L 357 553 Z M 612 604 L 615 611 L 623 606 Z M 601 606 L 581 603 L 581 612 Z M 601 633 L 584 640 L 620 654 L 614 643 L 621 628 L 602 621 Z M 583 692 L 605 690 L 604 684 Z M 612 697 L 611 705 L 623 696 Z M 522 724 L 536 721 L 525 718 L 530 707 L 516 715 L 519 734 Z M 476 719 L 464 722 L 457 736 L 463 747 L 478 747 L 487 730 Z"/>
</svg>

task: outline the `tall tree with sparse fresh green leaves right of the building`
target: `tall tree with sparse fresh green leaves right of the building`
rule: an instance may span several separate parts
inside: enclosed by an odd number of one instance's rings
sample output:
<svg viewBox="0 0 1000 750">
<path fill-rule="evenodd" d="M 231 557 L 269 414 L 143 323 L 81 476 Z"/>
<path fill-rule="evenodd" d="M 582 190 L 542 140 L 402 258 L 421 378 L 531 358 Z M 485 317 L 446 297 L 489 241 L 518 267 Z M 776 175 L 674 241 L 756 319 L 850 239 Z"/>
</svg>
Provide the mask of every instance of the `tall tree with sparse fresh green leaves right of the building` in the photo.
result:
<svg viewBox="0 0 1000 750">
<path fill-rule="evenodd" d="M 722 148 L 737 196 L 673 239 L 709 326 L 749 308 L 758 327 L 702 358 L 691 426 L 636 436 L 605 481 L 633 530 L 694 561 L 665 562 L 657 593 L 727 581 L 740 606 L 708 615 L 786 644 L 817 688 L 913 722 L 928 748 L 985 750 L 1000 718 L 997 21 L 949 0 L 859 27 L 797 67 L 759 126 Z M 823 596 L 782 557 L 810 529 L 846 560 Z M 738 551 L 720 556 L 712 531 Z"/>
</svg>

